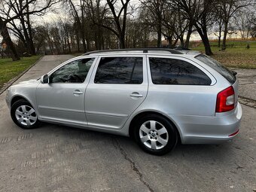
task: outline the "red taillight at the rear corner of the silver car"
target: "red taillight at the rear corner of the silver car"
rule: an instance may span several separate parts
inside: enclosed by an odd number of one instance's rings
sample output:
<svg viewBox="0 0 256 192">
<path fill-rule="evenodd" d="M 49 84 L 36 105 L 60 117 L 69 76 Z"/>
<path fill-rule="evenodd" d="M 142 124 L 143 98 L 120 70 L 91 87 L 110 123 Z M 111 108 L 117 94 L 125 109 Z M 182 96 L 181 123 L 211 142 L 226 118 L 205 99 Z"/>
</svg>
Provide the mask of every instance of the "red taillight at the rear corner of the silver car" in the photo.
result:
<svg viewBox="0 0 256 192">
<path fill-rule="evenodd" d="M 230 86 L 218 93 L 216 112 L 221 113 L 231 111 L 233 108 L 235 108 L 235 91 L 233 90 L 233 87 Z"/>
</svg>

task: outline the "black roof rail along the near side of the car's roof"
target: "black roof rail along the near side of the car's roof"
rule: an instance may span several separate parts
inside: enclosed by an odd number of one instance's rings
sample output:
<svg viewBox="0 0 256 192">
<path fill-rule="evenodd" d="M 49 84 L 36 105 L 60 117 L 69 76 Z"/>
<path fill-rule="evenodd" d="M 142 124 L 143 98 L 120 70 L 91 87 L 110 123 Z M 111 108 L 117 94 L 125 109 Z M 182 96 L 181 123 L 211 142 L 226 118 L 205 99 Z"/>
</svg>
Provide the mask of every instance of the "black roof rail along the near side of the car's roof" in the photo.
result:
<svg viewBox="0 0 256 192">
<path fill-rule="evenodd" d="M 148 53 L 148 50 L 163 50 L 163 51 L 168 51 L 169 53 L 172 53 L 172 54 L 183 54 L 178 50 L 166 49 L 166 48 L 130 48 L 130 49 L 114 49 L 114 50 L 94 50 L 94 51 L 84 53 L 83 56 L 90 55 L 90 54 L 93 54 L 93 53 L 129 51 L 129 50 L 142 50 L 143 53 Z"/>
</svg>

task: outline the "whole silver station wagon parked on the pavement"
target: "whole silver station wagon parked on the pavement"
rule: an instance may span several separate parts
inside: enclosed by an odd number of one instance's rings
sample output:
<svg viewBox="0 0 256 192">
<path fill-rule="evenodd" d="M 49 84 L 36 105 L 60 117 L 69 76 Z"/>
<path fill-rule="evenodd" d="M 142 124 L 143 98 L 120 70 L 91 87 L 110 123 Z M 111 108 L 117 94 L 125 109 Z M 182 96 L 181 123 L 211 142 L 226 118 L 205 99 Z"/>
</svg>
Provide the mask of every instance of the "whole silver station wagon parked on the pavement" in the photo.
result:
<svg viewBox="0 0 256 192">
<path fill-rule="evenodd" d="M 70 59 L 38 80 L 9 87 L 11 117 L 131 136 L 151 154 L 214 144 L 239 132 L 236 73 L 199 52 L 102 50 Z"/>
</svg>

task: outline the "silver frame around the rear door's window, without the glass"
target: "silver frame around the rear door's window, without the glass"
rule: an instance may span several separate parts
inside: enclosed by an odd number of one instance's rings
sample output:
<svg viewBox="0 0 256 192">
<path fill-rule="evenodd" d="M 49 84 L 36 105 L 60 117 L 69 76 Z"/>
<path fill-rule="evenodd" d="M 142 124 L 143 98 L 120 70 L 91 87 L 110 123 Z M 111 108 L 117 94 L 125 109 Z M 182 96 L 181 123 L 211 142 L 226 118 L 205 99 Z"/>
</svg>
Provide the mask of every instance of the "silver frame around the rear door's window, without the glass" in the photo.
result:
<svg viewBox="0 0 256 192">
<path fill-rule="evenodd" d="M 146 63 L 146 56 L 145 55 L 142 55 L 142 54 L 139 54 L 139 55 L 128 55 L 128 54 L 118 54 L 118 55 L 114 55 L 114 54 L 108 54 L 108 55 L 100 55 L 97 59 L 97 62 L 96 62 L 96 65 L 93 69 L 93 73 L 92 73 L 92 77 L 90 78 L 90 84 L 98 84 L 98 83 L 95 83 L 94 80 L 95 80 L 95 77 L 96 77 L 96 72 L 97 72 L 97 69 L 99 67 L 99 62 L 100 60 L 105 57 L 141 57 L 142 58 L 142 74 L 143 74 L 143 81 L 142 81 L 142 84 L 147 84 L 148 83 L 148 68 L 147 68 L 147 63 Z M 98 84 L 99 86 L 100 85 L 113 85 L 113 86 L 133 86 L 133 85 L 142 85 L 142 84 Z"/>
</svg>

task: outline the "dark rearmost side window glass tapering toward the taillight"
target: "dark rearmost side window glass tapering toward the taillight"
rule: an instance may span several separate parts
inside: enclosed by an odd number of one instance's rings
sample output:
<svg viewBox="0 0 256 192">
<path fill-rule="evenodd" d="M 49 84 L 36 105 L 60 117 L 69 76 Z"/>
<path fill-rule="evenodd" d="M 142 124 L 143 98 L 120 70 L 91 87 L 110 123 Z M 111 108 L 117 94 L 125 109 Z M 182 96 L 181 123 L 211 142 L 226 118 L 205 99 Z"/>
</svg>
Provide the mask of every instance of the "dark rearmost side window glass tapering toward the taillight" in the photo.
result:
<svg viewBox="0 0 256 192">
<path fill-rule="evenodd" d="M 153 84 L 210 85 L 211 79 L 196 66 L 180 59 L 149 58 Z"/>
</svg>

